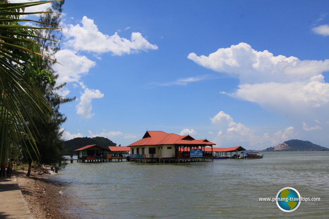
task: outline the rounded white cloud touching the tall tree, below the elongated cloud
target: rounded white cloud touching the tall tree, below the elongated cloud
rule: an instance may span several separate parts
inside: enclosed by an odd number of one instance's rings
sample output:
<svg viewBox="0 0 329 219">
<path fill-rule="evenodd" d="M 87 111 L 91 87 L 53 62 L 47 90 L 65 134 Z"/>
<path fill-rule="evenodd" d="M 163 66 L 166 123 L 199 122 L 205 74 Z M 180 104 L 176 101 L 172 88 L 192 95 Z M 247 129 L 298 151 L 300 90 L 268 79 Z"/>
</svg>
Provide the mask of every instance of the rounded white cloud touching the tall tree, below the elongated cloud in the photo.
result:
<svg viewBox="0 0 329 219">
<path fill-rule="evenodd" d="M 68 49 L 58 51 L 56 59 L 61 63 L 54 65 L 54 70 L 59 74 L 58 83 L 80 80 L 89 72 L 90 68 L 96 65 L 96 62 L 91 61 L 86 56 L 77 55 L 76 51 Z"/>
</svg>

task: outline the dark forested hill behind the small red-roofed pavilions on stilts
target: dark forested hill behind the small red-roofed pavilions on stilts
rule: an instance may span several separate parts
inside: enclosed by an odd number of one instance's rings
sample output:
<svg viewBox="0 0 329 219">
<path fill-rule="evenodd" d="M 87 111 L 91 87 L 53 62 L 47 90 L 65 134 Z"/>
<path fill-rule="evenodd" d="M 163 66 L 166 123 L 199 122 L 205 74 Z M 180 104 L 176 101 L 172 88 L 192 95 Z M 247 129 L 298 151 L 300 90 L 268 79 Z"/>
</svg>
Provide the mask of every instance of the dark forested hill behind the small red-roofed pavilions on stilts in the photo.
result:
<svg viewBox="0 0 329 219">
<path fill-rule="evenodd" d="M 97 144 L 105 148 L 107 148 L 108 146 L 116 146 L 116 143 L 104 137 L 74 138 L 64 142 L 65 149 L 62 152 L 62 155 L 76 154 L 76 151 L 74 150 L 91 144 Z"/>
</svg>

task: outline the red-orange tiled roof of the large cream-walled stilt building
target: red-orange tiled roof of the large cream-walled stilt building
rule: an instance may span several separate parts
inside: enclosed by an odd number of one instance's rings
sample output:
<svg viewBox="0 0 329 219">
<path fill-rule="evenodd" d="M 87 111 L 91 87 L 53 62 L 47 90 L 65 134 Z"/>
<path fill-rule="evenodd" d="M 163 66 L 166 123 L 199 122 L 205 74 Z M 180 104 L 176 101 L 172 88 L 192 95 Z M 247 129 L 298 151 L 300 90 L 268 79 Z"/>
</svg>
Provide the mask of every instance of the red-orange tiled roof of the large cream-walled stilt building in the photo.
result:
<svg viewBox="0 0 329 219">
<path fill-rule="evenodd" d="M 209 142 L 206 139 L 195 140 L 190 135 L 177 135 L 174 133 L 165 133 L 163 131 L 147 131 L 143 138 L 134 142 L 130 146 L 139 146 L 139 145 L 161 145 L 161 144 L 181 144 L 181 145 L 215 145 L 213 142 Z"/>
</svg>

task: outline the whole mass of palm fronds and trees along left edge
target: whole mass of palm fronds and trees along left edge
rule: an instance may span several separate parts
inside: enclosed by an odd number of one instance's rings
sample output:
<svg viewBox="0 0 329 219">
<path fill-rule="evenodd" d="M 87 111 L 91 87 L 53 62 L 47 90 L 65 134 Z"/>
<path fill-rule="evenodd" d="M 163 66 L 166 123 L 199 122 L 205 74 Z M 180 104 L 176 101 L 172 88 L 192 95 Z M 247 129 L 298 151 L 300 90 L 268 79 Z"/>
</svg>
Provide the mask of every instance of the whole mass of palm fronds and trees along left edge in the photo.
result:
<svg viewBox="0 0 329 219">
<path fill-rule="evenodd" d="M 46 12 L 24 12 L 26 7 L 45 3 L 52 4 Z M 59 105 L 74 99 L 56 94 L 65 84 L 56 85 L 58 76 L 52 69 L 59 50 L 56 30 L 63 3 L 0 0 L 0 163 L 24 155 L 29 167 L 32 161 L 61 164 L 60 125 L 66 118 Z M 41 13 L 39 21 L 20 19 L 35 13 Z"/>
</svg>

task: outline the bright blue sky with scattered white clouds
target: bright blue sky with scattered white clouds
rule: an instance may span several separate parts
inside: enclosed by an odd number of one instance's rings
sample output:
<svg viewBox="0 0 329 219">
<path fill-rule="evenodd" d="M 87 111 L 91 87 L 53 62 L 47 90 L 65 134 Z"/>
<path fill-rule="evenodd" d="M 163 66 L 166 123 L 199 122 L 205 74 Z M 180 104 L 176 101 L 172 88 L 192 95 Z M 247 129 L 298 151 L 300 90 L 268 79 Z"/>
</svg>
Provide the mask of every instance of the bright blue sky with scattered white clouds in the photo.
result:
<svg viewBox="0 0 329 219">
<path fill-rule="evenodd" d="M 61 26 L 64 140 L 329 147 L 329 1 L 66 0 Z"/>
</svg>

